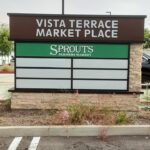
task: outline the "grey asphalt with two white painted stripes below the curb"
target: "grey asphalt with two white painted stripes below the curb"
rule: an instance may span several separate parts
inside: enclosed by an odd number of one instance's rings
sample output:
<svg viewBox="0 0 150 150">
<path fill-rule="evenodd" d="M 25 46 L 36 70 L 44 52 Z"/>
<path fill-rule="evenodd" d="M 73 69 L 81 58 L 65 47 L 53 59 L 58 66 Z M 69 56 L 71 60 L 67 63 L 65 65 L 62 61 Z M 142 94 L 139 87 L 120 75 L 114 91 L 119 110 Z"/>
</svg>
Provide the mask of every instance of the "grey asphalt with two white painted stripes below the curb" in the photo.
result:
<svg viewBox="0 0 150 150">
<path fill-rule="evenodd" d="M 150 150 L 149 136 L 9 137 L 0 138 L 0 150 Z"/>
</svg>

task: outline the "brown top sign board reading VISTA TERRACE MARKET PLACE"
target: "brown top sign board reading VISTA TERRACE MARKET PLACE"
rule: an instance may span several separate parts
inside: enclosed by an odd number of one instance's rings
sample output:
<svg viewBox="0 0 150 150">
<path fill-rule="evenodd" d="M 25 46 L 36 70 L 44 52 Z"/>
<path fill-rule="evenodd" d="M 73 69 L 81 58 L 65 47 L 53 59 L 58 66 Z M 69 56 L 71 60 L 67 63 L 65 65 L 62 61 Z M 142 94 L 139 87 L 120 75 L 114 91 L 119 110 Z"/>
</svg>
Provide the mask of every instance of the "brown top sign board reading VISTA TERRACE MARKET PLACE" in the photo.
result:
<svg viewBox="0 0 150 150">
<path fill-rule="evenodd" d="M 11 40 L 144 41 L 145 16 L 8 15 Z"/>
</svg>

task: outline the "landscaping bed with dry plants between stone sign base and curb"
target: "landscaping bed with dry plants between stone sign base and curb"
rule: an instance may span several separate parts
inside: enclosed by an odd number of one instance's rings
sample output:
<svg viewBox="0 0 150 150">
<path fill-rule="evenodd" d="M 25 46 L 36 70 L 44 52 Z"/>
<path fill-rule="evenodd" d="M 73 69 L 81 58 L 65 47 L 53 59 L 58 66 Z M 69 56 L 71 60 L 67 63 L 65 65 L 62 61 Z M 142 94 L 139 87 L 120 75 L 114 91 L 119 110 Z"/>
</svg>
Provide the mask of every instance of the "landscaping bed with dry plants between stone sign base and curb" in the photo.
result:
<svg viewBox="0 0 150 150">
<path fill-rule="evenodd" d="M 9 101 L 1 104 L 0 126 L 40 125 L 146 125 L 150 111 L 111 111 L 84 104 L 70 105 L 66 110 L 10 110 Z"/>
</svg>

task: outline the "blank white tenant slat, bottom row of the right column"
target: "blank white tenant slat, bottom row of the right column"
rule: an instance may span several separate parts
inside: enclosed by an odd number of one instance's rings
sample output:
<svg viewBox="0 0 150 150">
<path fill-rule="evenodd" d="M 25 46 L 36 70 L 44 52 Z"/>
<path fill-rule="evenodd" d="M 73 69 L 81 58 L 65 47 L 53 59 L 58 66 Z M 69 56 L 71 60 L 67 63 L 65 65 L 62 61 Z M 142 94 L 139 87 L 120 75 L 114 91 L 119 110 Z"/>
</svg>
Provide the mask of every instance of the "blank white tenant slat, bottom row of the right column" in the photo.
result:
<svg viewBox="0 0 150 150">
<path fill-rule="evenodd" d="M 127 81 L 74 80 L 73 89 L 127 90 Z"/>
</svg>

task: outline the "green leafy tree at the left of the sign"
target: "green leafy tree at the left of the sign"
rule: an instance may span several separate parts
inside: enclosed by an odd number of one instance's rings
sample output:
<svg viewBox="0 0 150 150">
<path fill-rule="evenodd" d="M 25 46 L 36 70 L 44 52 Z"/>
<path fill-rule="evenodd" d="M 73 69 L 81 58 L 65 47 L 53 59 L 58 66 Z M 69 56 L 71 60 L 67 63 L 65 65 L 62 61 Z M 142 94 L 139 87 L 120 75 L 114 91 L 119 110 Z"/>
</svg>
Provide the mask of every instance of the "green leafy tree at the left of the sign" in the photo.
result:
<svg viewBox="0 0 150 150">
<path fill-rule="evenodd" d="M 4 57 L 10 56 L 13 50 L 13 43 L 8 38 L 8 27 L 4 24 L 0 25 L 0 55 L 2 56 L 2 60 L 4 60 Z"/>
</svg>

